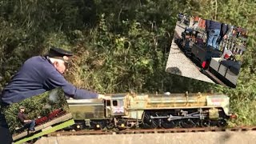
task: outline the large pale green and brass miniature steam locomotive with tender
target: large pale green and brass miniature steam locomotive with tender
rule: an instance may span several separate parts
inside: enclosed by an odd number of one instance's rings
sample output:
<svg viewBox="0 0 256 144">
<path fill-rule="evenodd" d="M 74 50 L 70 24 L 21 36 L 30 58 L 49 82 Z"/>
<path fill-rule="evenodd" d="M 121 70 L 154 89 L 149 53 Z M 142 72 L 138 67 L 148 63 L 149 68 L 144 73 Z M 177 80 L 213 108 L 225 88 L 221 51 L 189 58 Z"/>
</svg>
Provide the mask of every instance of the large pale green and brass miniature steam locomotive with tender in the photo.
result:
<svg viewBox="0 0 256 144">
<path fill-rule="evenodd" d="M 67 102 L 78 130 L 226 126 L 234 118 L 223 94 L 112 94 Z"/>
</svg>

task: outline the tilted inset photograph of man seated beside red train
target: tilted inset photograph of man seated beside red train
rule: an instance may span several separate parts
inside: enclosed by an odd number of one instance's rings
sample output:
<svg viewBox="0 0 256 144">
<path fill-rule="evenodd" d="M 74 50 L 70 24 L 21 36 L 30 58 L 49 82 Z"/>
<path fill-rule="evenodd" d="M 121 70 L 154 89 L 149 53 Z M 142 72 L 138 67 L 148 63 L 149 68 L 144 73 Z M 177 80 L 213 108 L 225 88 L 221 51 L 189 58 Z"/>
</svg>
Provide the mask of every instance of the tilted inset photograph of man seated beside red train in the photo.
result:
<svg viewBox="0 0 256 144">
<path fill-rule="evenodd" d="M 74 125 L 61 88 L 7 106 L 4 114 L 15 143 L 34 140 Z"/>
</svg>

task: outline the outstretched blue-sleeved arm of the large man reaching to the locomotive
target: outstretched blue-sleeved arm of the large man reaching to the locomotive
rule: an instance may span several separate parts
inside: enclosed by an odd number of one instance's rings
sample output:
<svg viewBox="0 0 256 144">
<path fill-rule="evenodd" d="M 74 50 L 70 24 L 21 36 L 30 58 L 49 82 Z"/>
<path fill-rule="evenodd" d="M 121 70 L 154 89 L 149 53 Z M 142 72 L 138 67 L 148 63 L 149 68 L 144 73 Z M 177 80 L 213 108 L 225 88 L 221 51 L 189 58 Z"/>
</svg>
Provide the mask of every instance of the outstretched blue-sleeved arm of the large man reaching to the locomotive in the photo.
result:
<svg viewBox="0 0 256 144">
<path fill-rule="evenodd" d="M 46 86 L 50 88 L 62 87 L 64 93 L 74 99 L 98 98 L 97 93 L 90 92 L 89 90 L 80 90 L 70 84 L 70 82 L 67 82 L 57 70 L 52 70 L 48 73 Z"/>
</svg>

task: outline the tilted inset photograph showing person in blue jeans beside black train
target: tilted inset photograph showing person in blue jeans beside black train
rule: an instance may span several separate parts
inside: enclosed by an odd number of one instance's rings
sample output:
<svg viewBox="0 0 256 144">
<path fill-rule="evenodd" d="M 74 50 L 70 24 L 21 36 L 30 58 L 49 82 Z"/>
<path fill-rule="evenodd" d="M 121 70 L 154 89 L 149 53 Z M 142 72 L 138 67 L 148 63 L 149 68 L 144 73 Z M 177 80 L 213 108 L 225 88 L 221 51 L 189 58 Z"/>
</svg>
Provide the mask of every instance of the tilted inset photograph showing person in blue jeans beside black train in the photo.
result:
<svg viewBox="0 0 256 144">
<path fill-rule="evenodd" d="M 178 14 L 166 72 L 235 88 L 247 34 L 239 26 Z"/>
</svg>

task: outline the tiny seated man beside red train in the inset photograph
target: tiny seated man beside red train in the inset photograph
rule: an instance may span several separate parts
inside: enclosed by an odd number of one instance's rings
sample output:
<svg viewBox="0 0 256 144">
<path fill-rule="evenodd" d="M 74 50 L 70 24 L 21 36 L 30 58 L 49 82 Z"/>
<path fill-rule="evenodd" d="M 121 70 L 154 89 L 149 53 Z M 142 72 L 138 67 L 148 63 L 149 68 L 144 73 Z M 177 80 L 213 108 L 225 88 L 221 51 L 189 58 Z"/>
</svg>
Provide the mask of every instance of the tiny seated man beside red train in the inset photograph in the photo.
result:
<svg viewBox="0 0 256 144">
<path fill-rule="evenodd" d="M 25 107 L 19 106 L 18 119 L 20 122 L 22 122 L 23 129 L 28 129 L 29 133 L 34 133 L 35 121 L 33 119 L 28 119 L 27 115 L 24 114 L 24 112 Z"/>
</svg>

